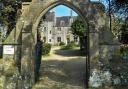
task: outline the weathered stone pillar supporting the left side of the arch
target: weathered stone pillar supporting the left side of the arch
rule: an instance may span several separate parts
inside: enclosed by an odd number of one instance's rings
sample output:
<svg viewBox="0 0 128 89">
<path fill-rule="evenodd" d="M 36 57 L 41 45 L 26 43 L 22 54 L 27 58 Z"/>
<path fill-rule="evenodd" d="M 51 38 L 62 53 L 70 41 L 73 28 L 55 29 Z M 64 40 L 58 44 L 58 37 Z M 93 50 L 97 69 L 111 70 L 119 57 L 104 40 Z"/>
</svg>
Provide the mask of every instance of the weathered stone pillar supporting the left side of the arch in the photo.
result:
<svg viewBox="0 0 128 89">
<path fill-rule="evenodd" d="M 24 26 L 22 30 L 22 58 L 21 58 L 22 89 L 31 89 L 34 84 L 34 38 L 32 24 Z"/>
</svg>

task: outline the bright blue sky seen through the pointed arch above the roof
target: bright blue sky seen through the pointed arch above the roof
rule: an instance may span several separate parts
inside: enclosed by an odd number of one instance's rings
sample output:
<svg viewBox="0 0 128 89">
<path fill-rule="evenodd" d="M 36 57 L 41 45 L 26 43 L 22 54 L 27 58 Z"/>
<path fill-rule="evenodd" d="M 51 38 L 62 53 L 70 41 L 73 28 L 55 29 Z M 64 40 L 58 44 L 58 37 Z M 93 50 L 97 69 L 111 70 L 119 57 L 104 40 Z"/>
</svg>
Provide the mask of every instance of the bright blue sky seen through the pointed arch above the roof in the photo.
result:
<svg viewBox="0 0 128 89">
<path fill-rule="evenodd" d="M 56 6 L 55 8 L 53 8 L 53 9 L 51 9 L 50 12 L 51 11 L 54 11 L 56 16 L 61 17 L 61 16 L 70 16 L 71 9 L 69 7 L 67 7 L 67 6 L 59 5 L 59 6 Z M 77 16 L 77 13 L 75 13 L 73 11 L 72 15 L 73 16 Z"/>
</svg>

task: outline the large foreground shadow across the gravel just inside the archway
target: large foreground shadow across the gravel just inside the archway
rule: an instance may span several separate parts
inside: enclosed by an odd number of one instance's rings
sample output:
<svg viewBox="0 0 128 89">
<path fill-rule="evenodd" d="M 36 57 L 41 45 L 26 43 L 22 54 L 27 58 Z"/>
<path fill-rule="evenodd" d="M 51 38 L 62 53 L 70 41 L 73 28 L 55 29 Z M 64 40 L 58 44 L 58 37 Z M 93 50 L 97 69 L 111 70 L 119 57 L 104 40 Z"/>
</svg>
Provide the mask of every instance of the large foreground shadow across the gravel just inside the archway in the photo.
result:
<svg viewBox="0 0 128 89">
<path fill-rule="evenodd" d="M 43 64 L 44 63 L 44 64 Z M 85 85 L 85 58 L 71 59 L 69 61 L 42 61 L 41 76 L 74 86 Z"/>
</svg>

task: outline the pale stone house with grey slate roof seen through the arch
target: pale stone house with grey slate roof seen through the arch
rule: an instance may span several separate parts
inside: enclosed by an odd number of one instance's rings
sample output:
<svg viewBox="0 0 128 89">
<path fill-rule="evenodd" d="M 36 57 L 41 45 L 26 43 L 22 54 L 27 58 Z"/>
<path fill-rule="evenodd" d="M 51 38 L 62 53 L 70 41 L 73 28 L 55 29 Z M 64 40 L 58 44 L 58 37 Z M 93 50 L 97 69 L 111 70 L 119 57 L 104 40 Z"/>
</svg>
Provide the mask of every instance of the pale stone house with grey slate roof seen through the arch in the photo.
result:
<svg viewBox="0 0 128 89">
<path fill-rule="evenodd" d="M 76 18 L 77 16 L 56 17 L 55 12 L 46 13 L 38 28 L 41 40 L 52 45 L 59 45 L 60 42 L 67 44 L 74 41 L 74 36 L 70 29 Z"/>
</svg>

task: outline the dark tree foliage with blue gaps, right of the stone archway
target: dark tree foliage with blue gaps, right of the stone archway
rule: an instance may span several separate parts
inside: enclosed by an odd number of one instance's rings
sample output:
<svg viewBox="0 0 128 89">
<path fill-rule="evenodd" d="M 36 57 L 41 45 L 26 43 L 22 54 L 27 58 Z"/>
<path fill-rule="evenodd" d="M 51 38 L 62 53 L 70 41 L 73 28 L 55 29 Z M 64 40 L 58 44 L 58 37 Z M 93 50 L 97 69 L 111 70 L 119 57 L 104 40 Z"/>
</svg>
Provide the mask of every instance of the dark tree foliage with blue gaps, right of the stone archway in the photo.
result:
<svg viewBox="0 0 128 89">
<path fill-rule="evenodd" d="M 126 30 L 128 24 L 128 0 L 101 0 L 102 2 L 107 2 L 108 5 L 105 4 L 107 7 L 106 11 L 109 13 L 110 16 L 110 29 L 117 37 L 124 37 L 120 36 L 123 35 L 122 33 L 127 33 Z M 123 31 L 123 32 L 122 32 Z M 122 38 L 119 38 L 122 40 Z M 125 39 L 128 38 L 125 36 Z M 124 39 L 124 40 L 125 40 Z M 121 41 L 124 43 L 123 41 Z"/>
</svg>

